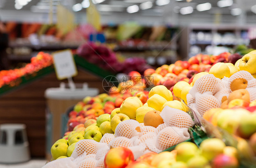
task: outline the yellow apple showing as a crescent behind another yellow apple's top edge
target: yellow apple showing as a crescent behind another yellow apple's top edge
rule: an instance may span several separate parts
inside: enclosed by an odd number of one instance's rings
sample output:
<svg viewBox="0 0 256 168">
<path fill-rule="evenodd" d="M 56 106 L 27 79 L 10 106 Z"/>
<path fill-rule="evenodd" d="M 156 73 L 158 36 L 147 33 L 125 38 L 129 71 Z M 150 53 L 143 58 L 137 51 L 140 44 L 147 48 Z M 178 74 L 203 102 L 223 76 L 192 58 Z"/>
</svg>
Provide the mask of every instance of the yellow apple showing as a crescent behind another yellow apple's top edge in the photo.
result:
<svg viewBox="0 0 256 168">
<path fill-rule="evenodd" d="M 167 101 L 173 100 L 172 92 L 167 89 L 164 85 L 154 86 L 148 93 L 148 98 L 153 96 L 154 94 L 158 94 L 164 97 Z"/>
</svg>

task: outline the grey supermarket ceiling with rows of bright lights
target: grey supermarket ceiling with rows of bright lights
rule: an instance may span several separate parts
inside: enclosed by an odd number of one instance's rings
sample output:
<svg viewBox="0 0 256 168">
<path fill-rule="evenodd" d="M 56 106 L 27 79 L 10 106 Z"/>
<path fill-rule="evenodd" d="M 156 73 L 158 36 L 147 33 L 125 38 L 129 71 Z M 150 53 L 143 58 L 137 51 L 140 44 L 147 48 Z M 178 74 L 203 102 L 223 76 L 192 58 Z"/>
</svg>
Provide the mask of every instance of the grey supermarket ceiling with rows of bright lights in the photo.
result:
<svg viewBox="0 0 256 168">
<path fill-rule="evenodd" d="M 188 2 L 190 1 L 190 2 Z M 256 14 L 256 0 L 0 0 L 0 10 L 31 10 L 48 13 L 51 5 L 62 4 L 75 12 L 84 12 L 91 3 L 102 14 L 141 13 L 164 14 L 172 10 L 180 15 L 186 14 Z"/>
</svg>

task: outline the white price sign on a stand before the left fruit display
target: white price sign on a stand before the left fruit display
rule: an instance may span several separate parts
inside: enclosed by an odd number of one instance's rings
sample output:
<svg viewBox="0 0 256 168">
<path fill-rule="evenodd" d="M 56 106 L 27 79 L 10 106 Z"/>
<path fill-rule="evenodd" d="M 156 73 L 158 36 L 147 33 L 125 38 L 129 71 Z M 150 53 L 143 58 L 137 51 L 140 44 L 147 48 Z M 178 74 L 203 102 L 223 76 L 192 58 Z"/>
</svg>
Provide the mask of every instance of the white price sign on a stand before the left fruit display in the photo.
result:
<svg viewBox="0 0 256 168">
<path fill-rule="evenodd" d="M 77 67 L 71 50 L 52 53 L 56 76 L 59 80 L 77 75 Z"/>
</svg>

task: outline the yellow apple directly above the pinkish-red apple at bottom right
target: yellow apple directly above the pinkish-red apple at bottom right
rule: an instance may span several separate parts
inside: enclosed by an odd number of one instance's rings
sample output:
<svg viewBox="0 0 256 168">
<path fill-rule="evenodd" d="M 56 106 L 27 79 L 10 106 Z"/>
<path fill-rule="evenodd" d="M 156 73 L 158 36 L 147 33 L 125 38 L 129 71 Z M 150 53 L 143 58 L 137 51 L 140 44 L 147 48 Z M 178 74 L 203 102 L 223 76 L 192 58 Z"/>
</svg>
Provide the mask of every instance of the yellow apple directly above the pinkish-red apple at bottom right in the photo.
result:
<svg viewBox="0 0 256 168">
<path fill-rule="evenodd" d="M 200 144 L 201 154 L 208 160 L 212 160 L 215 156 L 223 154 L 225 143 L 218 138 L 205 139 Z"/>
</svg>

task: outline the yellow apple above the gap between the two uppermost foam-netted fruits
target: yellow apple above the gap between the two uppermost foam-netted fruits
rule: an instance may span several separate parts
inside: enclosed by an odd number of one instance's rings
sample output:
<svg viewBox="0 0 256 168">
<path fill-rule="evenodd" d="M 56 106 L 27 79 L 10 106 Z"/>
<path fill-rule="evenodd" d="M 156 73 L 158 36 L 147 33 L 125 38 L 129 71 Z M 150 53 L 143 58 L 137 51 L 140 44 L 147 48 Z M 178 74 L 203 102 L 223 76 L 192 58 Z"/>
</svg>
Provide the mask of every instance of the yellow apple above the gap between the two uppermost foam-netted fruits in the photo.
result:
<svg viewBox="0 0 256 168">
<path fill-rule="evenodd" d="M 230 77 L 230 69 L 224 62 L 214 64 L 209 71 L 215 77 L 222 79 L 223 77 Z"/>
</svg>

